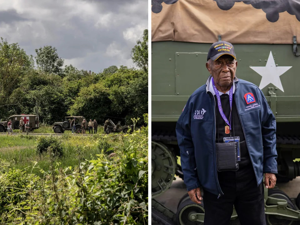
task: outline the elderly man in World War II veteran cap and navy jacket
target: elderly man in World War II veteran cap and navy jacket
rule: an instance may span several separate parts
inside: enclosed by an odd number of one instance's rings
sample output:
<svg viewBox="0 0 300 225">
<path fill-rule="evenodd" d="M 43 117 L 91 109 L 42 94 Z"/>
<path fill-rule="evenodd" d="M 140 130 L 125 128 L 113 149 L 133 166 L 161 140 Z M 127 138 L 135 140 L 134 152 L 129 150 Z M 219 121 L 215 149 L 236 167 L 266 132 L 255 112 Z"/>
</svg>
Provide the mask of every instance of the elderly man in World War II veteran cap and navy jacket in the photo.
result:
<svg viewBox="0 0 300 225">
<path fill-rule="evenodd" d="M 213 43 L 207 83 L 188 99 L 176 125 L 184 182 L 192 201 L 205 198 L 205 225 L 228 225 L 233 205 L 242 225 L 265 224 L 264 184 L 277 173 L 276 122 L 262 91 L 235 77 L 231 43 Z"/>
</svg>

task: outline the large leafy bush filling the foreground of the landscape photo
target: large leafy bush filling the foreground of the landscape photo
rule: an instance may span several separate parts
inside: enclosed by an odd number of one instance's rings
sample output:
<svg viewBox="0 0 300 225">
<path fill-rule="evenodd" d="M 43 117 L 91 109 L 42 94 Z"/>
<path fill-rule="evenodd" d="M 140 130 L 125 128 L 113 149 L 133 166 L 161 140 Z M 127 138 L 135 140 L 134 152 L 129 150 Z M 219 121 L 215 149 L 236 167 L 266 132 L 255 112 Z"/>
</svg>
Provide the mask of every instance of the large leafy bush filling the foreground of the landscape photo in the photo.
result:
<svg viewBox="0 0 300 225">
<path fill-rule="evenodd" d="M 40 191 L 12 209 L 17 224 L 148 224 L 148 158 L 145 143 L 119 136 L 116 157 L 105 154 L 79 167 L 54 165 Z M 104 139 L 105 140 L 105 139 Z M 146 141 L 147 142 L 147 141 Z M 68 174 L 68 175 L 66 175 Z"/>
</svg>

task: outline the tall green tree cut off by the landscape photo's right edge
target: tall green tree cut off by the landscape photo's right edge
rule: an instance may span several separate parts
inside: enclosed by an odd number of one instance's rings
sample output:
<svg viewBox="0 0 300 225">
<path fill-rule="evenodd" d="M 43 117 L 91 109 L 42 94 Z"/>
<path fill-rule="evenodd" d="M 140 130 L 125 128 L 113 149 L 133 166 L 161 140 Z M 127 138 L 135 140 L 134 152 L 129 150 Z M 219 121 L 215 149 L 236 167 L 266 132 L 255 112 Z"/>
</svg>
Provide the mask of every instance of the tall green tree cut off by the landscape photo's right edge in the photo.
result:
<svg viewBox="0 0 300 225">
<path fill-rule="evenodd" d="M 135 65 L 148 73 L 148 29 L 143 32 L 143 41 L 138 40 L 131 50 L 131 59 Z"/>
</svg>

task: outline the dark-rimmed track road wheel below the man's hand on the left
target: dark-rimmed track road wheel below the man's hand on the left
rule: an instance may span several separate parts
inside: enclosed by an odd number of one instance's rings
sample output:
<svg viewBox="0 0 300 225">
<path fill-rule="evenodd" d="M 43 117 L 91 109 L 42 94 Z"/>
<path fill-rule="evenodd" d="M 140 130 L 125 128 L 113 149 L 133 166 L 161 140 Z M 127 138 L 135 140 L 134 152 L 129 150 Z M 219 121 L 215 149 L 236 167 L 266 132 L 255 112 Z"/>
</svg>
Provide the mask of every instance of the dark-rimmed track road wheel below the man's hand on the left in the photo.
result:
<svg viewBox="0 0 300 225">
<path fill-rule="evenodd" d="M 203 201 L 201 202 L 201 204 L 197 204 L 189 198 L 182 201 L 176 212 L 177 224 L 180 225 L 203 225 L 204 224 L 203 222 L 190 220 L 189 215 L 191 213 L 204 213 Z"/>
</svg>

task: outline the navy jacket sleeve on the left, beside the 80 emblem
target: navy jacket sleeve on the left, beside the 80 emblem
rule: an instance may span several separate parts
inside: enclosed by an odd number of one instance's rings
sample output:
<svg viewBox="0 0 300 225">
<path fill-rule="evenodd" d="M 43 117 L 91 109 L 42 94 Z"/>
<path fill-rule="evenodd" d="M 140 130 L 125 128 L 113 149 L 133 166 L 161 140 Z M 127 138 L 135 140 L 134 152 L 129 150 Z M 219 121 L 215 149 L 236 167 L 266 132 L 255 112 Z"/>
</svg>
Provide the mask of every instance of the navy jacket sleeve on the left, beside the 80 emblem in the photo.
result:
<svg viewBox="0 0 300 225">
<path fill-rule="evenodd" d="M 192 104 L 189 99 L 176 124 L 181 168 L 184 176 L 184 183 L 187 186 L 188 191 L 200 187 L 196 169 L 194 144 L 191 135 L 190 110 L 192 110 Z"/>
</svg>

